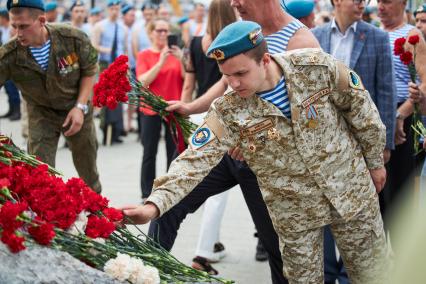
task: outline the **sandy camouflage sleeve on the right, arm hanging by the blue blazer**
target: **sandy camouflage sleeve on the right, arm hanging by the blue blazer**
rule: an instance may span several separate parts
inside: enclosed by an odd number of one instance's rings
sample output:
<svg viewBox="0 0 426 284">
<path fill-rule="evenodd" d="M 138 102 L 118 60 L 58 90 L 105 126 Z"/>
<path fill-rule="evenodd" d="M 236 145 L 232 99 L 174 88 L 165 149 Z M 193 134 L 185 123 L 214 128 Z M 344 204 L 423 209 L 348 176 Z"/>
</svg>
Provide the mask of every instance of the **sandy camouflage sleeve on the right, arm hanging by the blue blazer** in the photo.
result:
<svg viewBox="0 0 426 284">
<path fill-rule="evenodd" d="M 370 94 L 365 90 L 361 78 L 343 63 L 337 61 L 332 73 L 335 74 L 337 92 L 331 99 L 359 142 L 367 167 L 383 167 L 386 127 Z"/>
</svg>

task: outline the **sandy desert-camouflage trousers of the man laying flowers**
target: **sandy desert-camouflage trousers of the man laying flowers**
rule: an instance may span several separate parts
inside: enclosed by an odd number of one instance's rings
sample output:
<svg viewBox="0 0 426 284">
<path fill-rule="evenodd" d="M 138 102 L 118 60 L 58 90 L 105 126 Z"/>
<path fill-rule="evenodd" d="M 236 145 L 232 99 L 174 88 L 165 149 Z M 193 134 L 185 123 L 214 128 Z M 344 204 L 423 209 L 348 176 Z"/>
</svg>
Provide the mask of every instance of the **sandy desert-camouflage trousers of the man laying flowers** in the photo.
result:
<svg viewBox="0 0 426 284">
<path fill-rule="evenodd" d="M 388 248 L 379 204 L 375 204 L 349 221 L 331 208 L 330 227 L 353 284 L 388 283 Z M 324 283 L 323 227 L 278 234 L 289 283 Z"/>
</svg>

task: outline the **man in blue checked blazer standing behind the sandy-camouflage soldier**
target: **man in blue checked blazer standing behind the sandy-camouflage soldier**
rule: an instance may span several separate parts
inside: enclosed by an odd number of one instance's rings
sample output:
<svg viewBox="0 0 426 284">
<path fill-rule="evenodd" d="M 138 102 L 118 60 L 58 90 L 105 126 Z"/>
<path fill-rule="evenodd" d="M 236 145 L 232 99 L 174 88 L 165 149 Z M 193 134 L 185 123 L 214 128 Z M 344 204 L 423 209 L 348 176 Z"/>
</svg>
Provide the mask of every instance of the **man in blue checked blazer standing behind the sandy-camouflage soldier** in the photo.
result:
<svg viewBox="0 0 426 284">
<path fill-rule="evenodd" d="M 321 47 L 357 72 L 386 125 L 385 163 L 394 149 L 396 86 L 388 34 L 361 20 L 363 0 L 332 0 L 335 19 L 313 29 Z M 336 259 L 329 229 L 324 235 L 325 282 L 349 283 L 341 259 Z"/>
</svg>

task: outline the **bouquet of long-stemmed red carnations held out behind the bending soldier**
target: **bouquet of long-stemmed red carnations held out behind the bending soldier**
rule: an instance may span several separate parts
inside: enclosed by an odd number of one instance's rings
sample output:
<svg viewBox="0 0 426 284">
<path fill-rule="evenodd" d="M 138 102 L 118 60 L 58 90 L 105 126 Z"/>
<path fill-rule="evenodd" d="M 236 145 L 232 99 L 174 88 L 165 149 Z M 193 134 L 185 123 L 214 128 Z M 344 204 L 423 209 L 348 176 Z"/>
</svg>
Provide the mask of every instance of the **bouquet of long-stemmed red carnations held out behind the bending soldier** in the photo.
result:
<svg viewBox="0 0 426 284">
<path fill-rule="evenodd" d="M 167 82 L 165 82 L 167 83 Z M 178 113 L 168 112 L 168 103 L 144 87 L 130 72 L 128 57 L 120 55 L 99 76 L 93 88 L 93 105 L 114 109 L 119 103 L 128 103 L 158 113 L 168 124 L 178 151 L 185 150 L 185 141 L 197 128 L 195 124 Z"/>
</svg>

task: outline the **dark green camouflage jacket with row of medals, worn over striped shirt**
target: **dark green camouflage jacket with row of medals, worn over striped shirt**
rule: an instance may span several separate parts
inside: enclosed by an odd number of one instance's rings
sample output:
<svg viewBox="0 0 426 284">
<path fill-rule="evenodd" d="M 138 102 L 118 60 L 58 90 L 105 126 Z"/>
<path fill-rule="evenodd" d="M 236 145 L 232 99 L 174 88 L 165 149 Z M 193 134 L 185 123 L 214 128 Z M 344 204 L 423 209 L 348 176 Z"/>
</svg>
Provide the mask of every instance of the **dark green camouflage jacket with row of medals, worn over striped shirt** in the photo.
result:
<svg viewBox="0 0 426 284">
<path fill-rule="evenodd" d="M 13 38 L 0 47 L 0 85 L 12 80 L 29 104 L 70 110 L 79 95 L 80 79 L 97 72 L 98 54 L 82 31 L 65 24 L 46 27 L 51 41 L 47 70 Z"/>
</svg>

